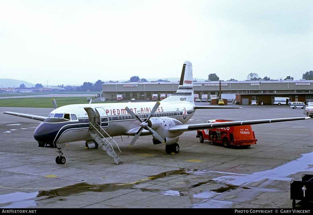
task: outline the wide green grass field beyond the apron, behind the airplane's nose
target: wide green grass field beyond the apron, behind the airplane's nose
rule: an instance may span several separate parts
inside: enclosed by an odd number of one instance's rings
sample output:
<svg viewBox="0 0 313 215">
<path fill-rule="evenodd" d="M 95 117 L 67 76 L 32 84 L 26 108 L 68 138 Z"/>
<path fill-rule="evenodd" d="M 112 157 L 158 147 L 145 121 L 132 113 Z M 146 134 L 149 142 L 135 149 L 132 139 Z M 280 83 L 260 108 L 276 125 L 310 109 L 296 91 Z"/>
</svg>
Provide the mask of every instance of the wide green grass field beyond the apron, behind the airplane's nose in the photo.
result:
<svg viewBox="0 0 313 215">
<path fill-rule="evenodd" d="M 0 99 L 0 107 L 20 108 L 54 108 L 52 99 L 55 99 L 57 106 L 69 104 L 88 104 L 86 97 L 35 97 L 35 98 L 3 98 Z M 93 102 L 94 103 L 94 102 Z M 107 103 L 107 102 L 95 102 Z"/>
</svg>

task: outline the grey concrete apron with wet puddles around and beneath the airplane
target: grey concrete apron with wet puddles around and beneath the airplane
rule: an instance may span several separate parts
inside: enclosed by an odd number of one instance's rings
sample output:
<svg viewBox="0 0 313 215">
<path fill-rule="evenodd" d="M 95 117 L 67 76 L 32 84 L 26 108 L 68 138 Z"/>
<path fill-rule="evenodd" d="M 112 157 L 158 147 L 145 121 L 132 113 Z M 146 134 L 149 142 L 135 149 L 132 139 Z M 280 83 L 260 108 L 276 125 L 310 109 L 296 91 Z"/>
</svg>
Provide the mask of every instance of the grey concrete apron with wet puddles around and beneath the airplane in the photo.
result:
<svg viewBox="0 0 313 215">
<path fill-rule="evenodd" d="M 197 110 L 188 124 L 304 116 L 289 106 L 241 107 Z M 59 165 L 56 150 L 33 139 L 39 121 L 2 114 L 52 110 L 0 107 L 0 208 L 290 208 L 290 182 L 313 174 L 313 119 L 253 125 L 258 141 L 249 148 L 200 143 L 196 131 L 180 136 L 178 154 L 151 136 L 132 148 L 132 137 L 114 137 L 119 165 L 83 141 L 69 143 Z"/>
</svg>

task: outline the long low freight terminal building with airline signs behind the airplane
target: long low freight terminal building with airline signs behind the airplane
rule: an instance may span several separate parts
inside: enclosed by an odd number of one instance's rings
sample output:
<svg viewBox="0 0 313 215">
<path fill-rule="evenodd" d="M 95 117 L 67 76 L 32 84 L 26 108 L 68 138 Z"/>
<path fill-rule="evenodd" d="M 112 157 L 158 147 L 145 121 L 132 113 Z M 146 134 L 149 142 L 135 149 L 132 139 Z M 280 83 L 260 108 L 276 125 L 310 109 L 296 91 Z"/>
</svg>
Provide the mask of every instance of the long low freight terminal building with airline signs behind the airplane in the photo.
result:
<svg viewBox="0 0 313 215">
<path fill-rule="evenodd" d="M 152 99 L 153 94 L 161 93 L 170 95 L 178 89 L 177 82 L 108 82 L 102 85 L 103 97 L 109 100 L 116 100 L 117 95 L 123 95 L 124 101 L 135 99 Z M 273 104 L 275 97 L 288 97 L 292 102 L 313 101 L 313 80 L 244 80 L 244 81 L 193 81 L 193 92 L 199 98 L 203 94 L 216 95 L 236 94 L 236 101 L 240 104 L 251 104 L 250 101 L 257 101 L 263 104 Z"/>
</svg>

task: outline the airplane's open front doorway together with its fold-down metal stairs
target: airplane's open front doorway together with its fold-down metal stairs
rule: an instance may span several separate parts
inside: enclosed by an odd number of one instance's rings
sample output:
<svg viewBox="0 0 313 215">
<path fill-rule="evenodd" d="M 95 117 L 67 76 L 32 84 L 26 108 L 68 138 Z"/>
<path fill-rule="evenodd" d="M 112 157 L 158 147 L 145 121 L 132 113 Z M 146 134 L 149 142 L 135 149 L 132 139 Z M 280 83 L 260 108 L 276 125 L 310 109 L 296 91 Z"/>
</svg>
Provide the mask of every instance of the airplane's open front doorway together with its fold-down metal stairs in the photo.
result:
<svg viewBox="0 0 313 215">
<path fill-rule="evenodd" d="M 101 123 L 101 115 L 97 109 L 93 108 L 84 108 L 89 117 L 89 130 L 90 137 L 99 145 L 99 149 L 104 150 L 112 160 L 116 164 L 123 163 L 121 158 L 119 157 L 119 153 L 121 152 L 120 148 L 118 147 L 117 143 L 113 140 L 112 137 L 102 128 Z M 102 117 L 103 119 L 103 117 Z M 102 120 L 104 121 L 104 120 Z M 107 123 L 106 123 L 107 125 Z M 107 138 L 105 138 L 106 136 Z M 116 154 L 114 148 L 117 148 L 119 153 Z"/>
</svg>

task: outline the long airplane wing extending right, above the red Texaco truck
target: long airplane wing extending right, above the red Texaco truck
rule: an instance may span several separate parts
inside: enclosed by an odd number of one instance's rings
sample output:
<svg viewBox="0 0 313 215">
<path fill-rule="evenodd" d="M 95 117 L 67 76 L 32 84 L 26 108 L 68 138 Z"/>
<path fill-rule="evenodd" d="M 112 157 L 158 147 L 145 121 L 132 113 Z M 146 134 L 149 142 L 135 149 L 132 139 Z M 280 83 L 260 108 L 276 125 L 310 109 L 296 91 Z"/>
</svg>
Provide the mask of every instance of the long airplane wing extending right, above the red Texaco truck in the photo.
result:
<svg viewBox="0 0 313 215">
<path fill-rule="evenodd" d="M 247 121 L 233 121 L 233 122 L 223 122 L 223 123 L 201 123 L 201 124 L 185 124 L 185 125 L 174 125 L 169 128 L 170 132 L 185 132 L 185 131 L 195 131 L 211 128 L 225 128 L 241 125 L 254 125 L 263 123 L 277 123 L 293 120 L 309 119 L 310 117 L 297 117 L 297 118 L 281 118 L 281 119 L 260 119 L 260 120 L 247 120 Z"/>
</svg>

